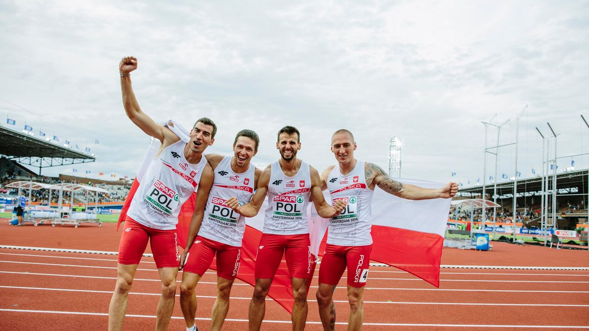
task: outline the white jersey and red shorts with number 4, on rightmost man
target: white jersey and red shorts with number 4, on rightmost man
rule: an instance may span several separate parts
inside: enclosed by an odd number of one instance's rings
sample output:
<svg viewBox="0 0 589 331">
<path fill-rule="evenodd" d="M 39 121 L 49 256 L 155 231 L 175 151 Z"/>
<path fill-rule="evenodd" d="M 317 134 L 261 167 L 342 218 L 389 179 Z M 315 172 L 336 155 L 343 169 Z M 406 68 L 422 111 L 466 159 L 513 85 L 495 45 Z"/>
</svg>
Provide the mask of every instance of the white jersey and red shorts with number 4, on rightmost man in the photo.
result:
<svg viewBox="0 0 589 331">
<path fill-rule="evenodd" d="M 357 161 L 346 176 L 336 166 L 326 178 L 332 200 L 343 200 L 347 204 L 338 216 L 329 220 L 319 283 L 336 285 L 347 266 L 349 286 L 366 284 L 372 251 L 370 204 L 374 191 L 366 184 L 364 165 L 364 161 Z"/>
</svg>

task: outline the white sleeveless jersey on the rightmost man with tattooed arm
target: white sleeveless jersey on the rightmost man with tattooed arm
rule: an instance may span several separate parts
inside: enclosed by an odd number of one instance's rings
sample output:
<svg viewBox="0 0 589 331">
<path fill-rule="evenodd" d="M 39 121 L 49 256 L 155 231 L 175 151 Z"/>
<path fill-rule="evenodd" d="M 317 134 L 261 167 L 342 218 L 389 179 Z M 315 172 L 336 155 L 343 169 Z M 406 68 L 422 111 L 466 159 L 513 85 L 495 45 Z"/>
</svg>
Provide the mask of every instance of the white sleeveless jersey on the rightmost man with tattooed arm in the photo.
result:
<svg viewBox="0 0 589 331">
<path fill-rule="evenodd" d="M 371 202 L 373 190 L 366 185 L 364 161 L 356 161 L 352 172 L 343 176 L 335 166 L 326 178 L 332 201 L 341 199 L 346 207 L 329 220 L 327 243 L 338 246 L 366 246 L 372 244 Z"/>
</svg>

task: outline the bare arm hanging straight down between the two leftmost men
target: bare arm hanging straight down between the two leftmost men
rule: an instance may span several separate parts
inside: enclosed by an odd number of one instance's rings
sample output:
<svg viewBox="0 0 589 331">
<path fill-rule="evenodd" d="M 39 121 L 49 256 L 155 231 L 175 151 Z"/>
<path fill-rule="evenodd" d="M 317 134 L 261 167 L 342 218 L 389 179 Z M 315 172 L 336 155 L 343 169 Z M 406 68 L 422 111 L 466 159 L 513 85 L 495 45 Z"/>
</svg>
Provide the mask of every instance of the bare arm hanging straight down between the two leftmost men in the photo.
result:
<svg viewBox="0 0 589 331">
<path fill-rule="evenodd" d="M 184 253 L 182 253 L 182 256 L 180 257 L 180 266 L 178 267 L 178 270 L 182 270 L 184 267 L 186 255 L 190 250 L 190 246 L 192 246 L 192 243 L 194 243 L 194 238 L 196 238 L 196 235 L 198 234 L 200 224 L 203 223 L 204 207 L 206 206 L 207 200 L 209 199 L 209 191 L 211 190 L 211 186 L 213 186 L 213 178 L 213 169 L 207 164 L 207 166 L 204 167 L 203 174 L 200 177 L 200 183 L 198 183 L 196 201 L 194 202 L 194 212 L 192 214 L 192 219 L 190 220 L 186 246 Z"/>
</svg>

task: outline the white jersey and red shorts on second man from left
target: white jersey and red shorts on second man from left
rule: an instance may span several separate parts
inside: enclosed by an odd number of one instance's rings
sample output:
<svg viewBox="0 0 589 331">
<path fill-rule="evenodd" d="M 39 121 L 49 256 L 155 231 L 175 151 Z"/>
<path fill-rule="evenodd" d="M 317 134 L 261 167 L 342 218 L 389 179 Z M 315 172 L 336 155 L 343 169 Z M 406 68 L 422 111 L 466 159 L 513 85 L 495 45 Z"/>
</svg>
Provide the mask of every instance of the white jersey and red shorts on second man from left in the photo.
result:
<svg viewBox="0 0 589 331">
<path fill-rule="evenodd" d="M 215 169 L 203 223 L 184 262 L 185 272 L 203 276 L 217 253 L 217 275 L 229 280 L 237 276 L 246 222 L 226 201 L 237 197 L 243 205 L 252 200 L 256 167 L 237 174 L 231 169 L 231 159 L 224 157 Z"/>
</svg>

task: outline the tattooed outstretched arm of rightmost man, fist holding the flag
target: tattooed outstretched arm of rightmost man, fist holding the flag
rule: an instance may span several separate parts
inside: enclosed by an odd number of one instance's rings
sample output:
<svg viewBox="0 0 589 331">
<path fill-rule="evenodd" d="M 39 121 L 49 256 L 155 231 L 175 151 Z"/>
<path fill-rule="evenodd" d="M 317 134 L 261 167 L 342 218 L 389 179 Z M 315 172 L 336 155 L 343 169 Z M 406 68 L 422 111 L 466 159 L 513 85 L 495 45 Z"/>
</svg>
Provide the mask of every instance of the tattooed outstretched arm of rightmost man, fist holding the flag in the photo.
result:
<svg viewBox="0 0 589 331">
<path fill-rule="evenodd" d="M 382 168 L 373 163 L 366 163 L 366 184 L 373 190 L 380 187 L 386 193 L 409 200 L 424 200 L 434 198 L 451 198 L 458 192 L 458 184 L 450 182 L 442 188 L 423 188 L 415 185 L 401 184 L 393 180 Z"/>
</svg>

